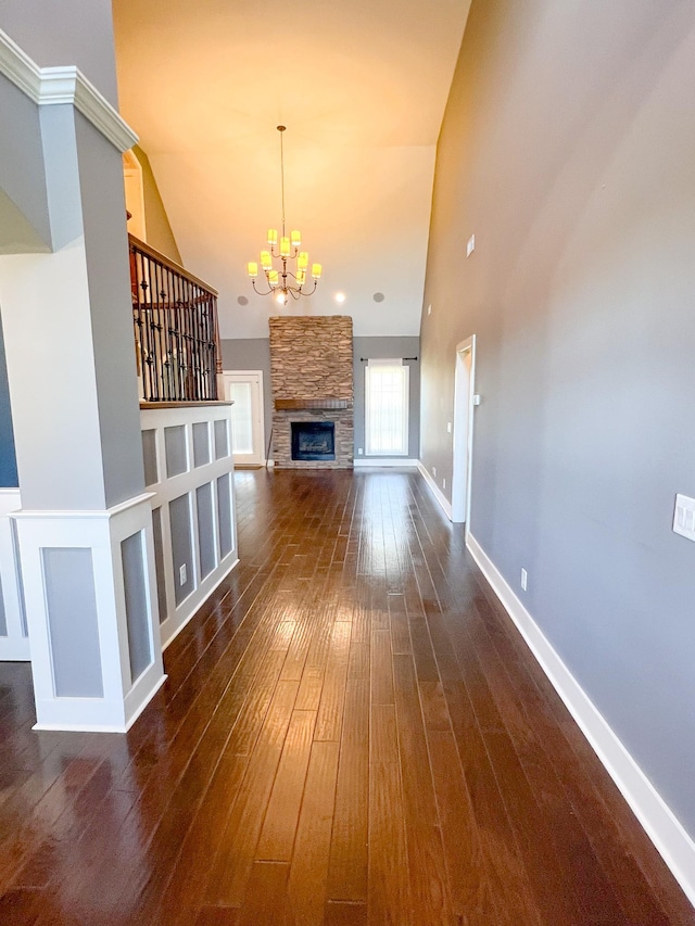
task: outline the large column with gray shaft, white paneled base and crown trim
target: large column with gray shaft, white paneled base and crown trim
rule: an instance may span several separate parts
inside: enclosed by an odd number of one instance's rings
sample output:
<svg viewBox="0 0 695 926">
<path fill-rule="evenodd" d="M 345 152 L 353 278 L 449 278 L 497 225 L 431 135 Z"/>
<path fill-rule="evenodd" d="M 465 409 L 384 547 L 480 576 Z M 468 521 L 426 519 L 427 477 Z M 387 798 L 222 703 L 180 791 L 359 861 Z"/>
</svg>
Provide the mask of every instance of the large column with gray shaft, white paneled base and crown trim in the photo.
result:
<svg viewBox="0 0 695 926">
<path fill-rule="evenodd" d="M 74 68 L 28 72 L 40 151 L 24 156 L 42 164 L 52 250 L 0 256 L 0 309 L 37 726 L 125 731 L 165 678 L 123 190 L 132 136 Z"/>
</svg>

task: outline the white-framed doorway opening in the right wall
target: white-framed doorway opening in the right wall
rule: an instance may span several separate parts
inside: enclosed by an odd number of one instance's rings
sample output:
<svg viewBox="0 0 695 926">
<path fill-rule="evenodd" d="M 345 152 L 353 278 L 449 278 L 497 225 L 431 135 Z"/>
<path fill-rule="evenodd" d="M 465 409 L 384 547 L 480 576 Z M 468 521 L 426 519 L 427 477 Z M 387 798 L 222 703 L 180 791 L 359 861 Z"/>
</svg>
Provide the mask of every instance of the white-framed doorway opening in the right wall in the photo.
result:
<svg viewBox="0 0 695 926">
<path fill-rule="evenodd" d="M 469 530 L 473 407 L 476 392 L 476 335 L 456 345 L 454 372 L 454 442 L 452 521 Z"/>
</svg>

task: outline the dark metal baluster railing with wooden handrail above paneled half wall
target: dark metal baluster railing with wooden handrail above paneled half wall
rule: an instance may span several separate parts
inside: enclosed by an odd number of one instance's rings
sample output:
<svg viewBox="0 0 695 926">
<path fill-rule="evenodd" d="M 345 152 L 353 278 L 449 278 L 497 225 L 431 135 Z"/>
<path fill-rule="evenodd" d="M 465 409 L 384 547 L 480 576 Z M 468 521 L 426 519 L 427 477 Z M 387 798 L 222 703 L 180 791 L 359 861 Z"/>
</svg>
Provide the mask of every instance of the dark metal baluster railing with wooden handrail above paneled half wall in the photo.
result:
<svg viewBox="0 0 695 926">
<path fill-rule="evenodd" d="M 216 401 L 217 291 L 132 234 L 128 243 L 141 398 Z"/>
</svg>

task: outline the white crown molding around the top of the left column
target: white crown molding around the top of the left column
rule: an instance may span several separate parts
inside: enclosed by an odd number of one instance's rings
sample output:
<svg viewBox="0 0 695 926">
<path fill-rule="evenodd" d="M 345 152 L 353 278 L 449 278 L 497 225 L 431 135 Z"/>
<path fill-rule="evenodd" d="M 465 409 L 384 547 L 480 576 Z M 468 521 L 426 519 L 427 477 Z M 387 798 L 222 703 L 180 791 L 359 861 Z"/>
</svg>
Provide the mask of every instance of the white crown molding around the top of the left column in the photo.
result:
<svg viewBox="0 0 695 926">
<path fill-rule="evenodd" d="M 75 66 L 39 67 L 0 29 L 0 74 L 39 106 L 72 105 L 118 151 L 127 151 L 138 136 L 114 106 Z"/>
</svg>

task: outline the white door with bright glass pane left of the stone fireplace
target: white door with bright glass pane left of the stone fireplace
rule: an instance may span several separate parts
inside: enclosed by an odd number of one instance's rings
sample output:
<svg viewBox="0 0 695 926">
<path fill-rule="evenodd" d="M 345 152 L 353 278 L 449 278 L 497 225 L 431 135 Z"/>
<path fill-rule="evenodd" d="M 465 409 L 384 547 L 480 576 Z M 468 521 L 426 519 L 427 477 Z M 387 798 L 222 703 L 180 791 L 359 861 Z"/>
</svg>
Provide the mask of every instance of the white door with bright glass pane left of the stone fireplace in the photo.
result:
<svg viewBox="0 0 695 926">
<path fill-rule="evenodd" d="M 231 406 L 231 449 L 235 466 L 264 466 L 263 371 L 223 373 L 225 398 Z"/>
</svg>

